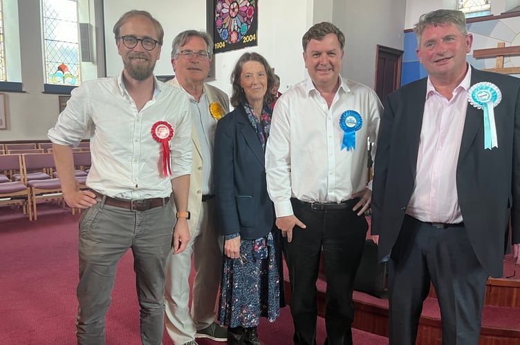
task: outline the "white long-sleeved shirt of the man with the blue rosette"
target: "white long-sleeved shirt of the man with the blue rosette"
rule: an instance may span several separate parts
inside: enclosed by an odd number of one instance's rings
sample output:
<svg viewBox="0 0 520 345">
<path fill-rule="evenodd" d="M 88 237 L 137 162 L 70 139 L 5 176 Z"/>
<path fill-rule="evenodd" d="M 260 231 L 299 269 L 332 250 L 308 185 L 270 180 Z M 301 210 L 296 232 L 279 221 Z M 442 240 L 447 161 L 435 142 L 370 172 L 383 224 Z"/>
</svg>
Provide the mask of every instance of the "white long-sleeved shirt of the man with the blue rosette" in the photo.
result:
<svg viewBox="0 0 520 345">
<path fill-rule="evenodd" d="M 268 193 L 277 217 L 293 215 L 291 197 L 339 203 L 366 187 L 367 138 L 376 141 L 382 105 L 367 86 L 340 80 L 330 109 L 310 79 L 300 81 L 277 101 L 266 148 Z M 362 127 L 355 132 L 355 150 L 342 149 L 340 117 L 346 110 L 362 118 Z"/>
</svg>

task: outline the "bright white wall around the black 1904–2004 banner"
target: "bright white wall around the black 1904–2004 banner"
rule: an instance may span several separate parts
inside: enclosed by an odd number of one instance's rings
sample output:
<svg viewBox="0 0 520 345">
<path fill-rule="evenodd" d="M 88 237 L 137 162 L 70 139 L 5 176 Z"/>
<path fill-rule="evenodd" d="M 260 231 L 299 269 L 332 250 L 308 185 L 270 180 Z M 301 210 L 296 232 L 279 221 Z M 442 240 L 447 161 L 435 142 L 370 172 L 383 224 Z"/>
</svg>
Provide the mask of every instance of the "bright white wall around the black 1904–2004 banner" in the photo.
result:
<svg viewBox="0 0 520 345">
<path fill-rule="evenodd" d="M 259 1 L 258 46 L 216 54 L 213 59 L 214 76 L 208 81 L 230 95 L 232 69 L 246 51 L 258 52 L 266 57 L 281 78 L 281 92 L 303 79 L 305 75 L 301 58 L 301 36 L 308 28 L 308 6 L 301 4 L 301 0 Z M 189 6 L 182 7 L 176 1 L 104 1 L 107 75 L 118 75 L 122 70 L 122 61 L 115 48 L 112 29 L 123 12 L 132 9 L 147 10 L 160 21 L 165 29 L 165 39 L 155 73 L 173 75 L 170 63 L 171 41 L 183 30 L 206 30 L 205 8 L 206 0 L 191 0 Z"/>
</svg>

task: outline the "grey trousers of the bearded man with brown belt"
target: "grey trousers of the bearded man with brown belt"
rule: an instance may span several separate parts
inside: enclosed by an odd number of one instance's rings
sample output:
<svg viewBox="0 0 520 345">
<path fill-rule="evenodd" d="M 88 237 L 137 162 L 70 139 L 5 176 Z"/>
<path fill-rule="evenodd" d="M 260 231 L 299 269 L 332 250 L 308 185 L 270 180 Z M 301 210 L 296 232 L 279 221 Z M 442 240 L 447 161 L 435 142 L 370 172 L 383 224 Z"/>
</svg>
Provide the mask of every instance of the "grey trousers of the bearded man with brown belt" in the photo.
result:
<svg viewBox="0 0 520 345">
<path fill-rule="evenodd" d="M 103 200 L 84 211 L 78 240 L 77 344 L 104 344 L 104 317 L 111 303 L 115 270 L 129 248 L 136 273 L 142 344 L 163 343 L 164 268 L 174 219 L 169 204 L 133 211 L 105 205 Z"/>
</svg>

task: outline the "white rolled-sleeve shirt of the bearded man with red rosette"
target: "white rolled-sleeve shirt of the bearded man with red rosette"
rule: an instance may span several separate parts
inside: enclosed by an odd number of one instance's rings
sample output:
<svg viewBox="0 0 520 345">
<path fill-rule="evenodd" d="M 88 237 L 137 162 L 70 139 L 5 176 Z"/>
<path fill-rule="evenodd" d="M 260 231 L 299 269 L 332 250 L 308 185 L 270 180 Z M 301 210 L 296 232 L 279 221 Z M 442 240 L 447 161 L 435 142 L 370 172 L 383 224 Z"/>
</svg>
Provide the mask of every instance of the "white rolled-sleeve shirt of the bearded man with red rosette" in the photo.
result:
<svg viewBox="0 0 520 345">
<path fill-rule="evenodd" d="M 91 130 L 92 166 L 86 185 L 124 199 L 168 197 L 174 177 L 192 172 L 192 119 L 185 92 L 155 79 L 154 96 L 138 111 L 122 75 L 85 81 L 48 131 L 50 141 L 77 146 Z M 174 129 L 169 141 L 172 175 L 163 175 L 161 144 L 151 136 L 157 121 Z"/>
</svg>

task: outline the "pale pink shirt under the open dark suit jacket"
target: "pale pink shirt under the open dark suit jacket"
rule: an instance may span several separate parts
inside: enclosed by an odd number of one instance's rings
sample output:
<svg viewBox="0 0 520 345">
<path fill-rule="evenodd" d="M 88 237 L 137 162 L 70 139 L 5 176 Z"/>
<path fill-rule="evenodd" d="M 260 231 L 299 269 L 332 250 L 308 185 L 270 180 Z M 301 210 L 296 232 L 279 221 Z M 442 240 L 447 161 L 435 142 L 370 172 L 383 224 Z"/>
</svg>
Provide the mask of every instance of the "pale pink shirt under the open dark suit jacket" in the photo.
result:
<svg viewBox="0 0 520 345">
<path fill-rule="evenodd" d="M 466 119 L 471 67 L 453 91 L 452 99 L 438 93 L 429 77 L 414 193 L 407 214 L 420 221 L 460 223 L 456 170 Z"/>
</svg>

